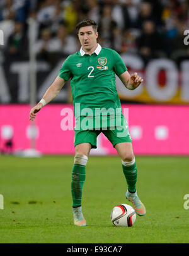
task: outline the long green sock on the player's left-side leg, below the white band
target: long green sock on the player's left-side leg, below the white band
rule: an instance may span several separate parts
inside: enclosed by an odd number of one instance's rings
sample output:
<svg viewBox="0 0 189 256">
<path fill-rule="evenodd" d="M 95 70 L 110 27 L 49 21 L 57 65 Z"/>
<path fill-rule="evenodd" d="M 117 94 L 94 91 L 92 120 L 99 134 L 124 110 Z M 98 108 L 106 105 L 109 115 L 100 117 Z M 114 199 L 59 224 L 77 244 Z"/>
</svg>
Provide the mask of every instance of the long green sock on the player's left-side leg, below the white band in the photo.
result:
<svg viewBox="0 0 189 256">
<path fill-rule="evenodd" d="M 72 207 L 78 207 L 81 205 L 83 185 L 85 181 L 85 166 L 81 164 L 74 164 L 72 168 Z"/>
</svg>

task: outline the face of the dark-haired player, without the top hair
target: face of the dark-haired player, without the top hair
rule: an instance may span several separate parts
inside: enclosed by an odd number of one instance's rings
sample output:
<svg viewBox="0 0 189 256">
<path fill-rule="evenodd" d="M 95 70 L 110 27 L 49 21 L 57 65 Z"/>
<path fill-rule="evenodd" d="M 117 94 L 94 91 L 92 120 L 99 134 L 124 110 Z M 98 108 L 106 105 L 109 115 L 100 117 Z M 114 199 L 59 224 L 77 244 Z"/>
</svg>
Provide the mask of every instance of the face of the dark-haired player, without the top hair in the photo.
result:
<svg viewBox="0 0 189 256">
<path fill-rule="evenodd" d="M 83 50 L 90 51 L 96 46 L 98 32 L 95 32 L 92 26 L 82 27 L 79 28 L 78 37 Z"/>
</svg>

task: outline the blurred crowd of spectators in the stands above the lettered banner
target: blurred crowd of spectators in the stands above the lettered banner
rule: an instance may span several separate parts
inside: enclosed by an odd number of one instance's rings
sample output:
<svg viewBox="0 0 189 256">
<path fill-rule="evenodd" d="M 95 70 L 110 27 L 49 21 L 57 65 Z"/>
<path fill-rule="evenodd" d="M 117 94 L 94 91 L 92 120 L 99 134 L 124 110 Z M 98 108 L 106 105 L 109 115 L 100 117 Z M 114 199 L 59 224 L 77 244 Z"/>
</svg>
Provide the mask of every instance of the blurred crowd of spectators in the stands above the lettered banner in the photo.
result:
<svg viewBox="0 0 189 256">
<path fill-rule="evenodd" d="M 36 22 L 37 58 L 54 64 L 79 50 L 77 22 L 98 23 L 98 42 L 117 52 L 137 54 L 144 63 L 189 59 L 183 32 L 189 29 L 189 0 L 1 0 L 4 59 L 28 59 L 28 20 Z"/>
</svg>

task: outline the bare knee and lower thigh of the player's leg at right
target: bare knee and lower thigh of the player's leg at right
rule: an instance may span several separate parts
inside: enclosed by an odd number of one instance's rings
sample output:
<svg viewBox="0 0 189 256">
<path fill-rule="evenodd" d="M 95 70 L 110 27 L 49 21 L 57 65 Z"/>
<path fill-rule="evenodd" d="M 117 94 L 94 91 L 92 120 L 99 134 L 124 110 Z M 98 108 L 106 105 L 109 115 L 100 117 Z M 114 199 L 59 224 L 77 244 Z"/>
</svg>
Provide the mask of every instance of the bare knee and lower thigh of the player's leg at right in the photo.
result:
<svg viewBox="0 0 189 256">
<path fill-rule="evenodd" d="M 118 155 L 125 162 L 130 162 L 134 159 L 134 152 L 131 142 L 122 142 L 115 145 Z"/>
</svg>

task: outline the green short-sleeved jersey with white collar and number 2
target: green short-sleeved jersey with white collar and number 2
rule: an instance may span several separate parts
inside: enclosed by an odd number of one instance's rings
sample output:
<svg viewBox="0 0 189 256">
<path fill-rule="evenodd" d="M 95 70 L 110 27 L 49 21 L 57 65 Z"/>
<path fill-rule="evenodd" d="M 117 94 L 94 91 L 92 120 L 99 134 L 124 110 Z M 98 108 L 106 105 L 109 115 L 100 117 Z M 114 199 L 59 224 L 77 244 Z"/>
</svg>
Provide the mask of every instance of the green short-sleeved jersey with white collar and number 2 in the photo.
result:
<svg viewBox="0 0 189 256">
<path fill-rule="evenodd" d="M 81 48 L 71 54 L 62 64 L 59 76 L 64 80 L 71 78 L 74 114 L 79 104 L 80 116 L 84 108 L 89 108 L 95 115 L 95 109 L 118 109 L 120 99 L 115 85 L 115 75 L 127 71 L 120 55 L 98 44 L 95 52 L 87 54 Z M 90 115 L 90 113 L 88 113 Z"/>
</svg>

